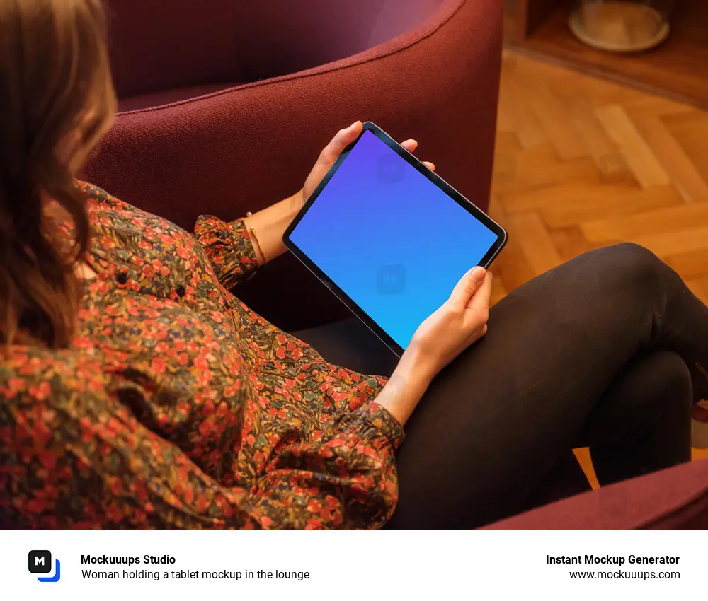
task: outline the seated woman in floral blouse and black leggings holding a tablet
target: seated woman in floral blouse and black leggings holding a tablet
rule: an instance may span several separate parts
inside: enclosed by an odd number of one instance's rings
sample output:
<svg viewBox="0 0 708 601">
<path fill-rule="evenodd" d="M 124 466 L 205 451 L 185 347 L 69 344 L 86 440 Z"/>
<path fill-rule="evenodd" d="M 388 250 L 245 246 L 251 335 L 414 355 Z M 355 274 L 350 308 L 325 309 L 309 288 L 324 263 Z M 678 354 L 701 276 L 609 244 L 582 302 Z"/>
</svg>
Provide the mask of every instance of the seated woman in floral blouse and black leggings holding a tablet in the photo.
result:
<svg viewBox="0 0 708 601">
<path fill-rule="evenodd" d="M 392 373 L 356 322 L 309 346 L 230 289 L 360 122 L 302 191 L 192 235 L 76 185 L 115 110 L 100 0 L 0 11 L 1 527 L 475 527 L 573 445 L 603 482 L 689 460 L 708 309 L 650 252 L 584 255 L 491 312 L 474 268 Z"/>
</svg>

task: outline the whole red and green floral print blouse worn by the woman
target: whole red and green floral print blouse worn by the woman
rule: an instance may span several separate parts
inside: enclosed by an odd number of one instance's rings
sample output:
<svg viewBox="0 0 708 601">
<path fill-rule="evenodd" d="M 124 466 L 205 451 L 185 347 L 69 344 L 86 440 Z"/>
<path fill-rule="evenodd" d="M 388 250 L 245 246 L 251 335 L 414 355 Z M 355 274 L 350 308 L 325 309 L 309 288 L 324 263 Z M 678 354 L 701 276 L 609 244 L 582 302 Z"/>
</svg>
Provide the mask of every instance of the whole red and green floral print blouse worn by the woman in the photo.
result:
<svg viewBox="0 0 708 601">
<path fill-rule="evenodd" d="M 403 438 L 386 381 L 232 295 L 258 267 L 242 221 L 190 234 L 82 186 L 98 276 L 74 341 L 0 347 L 0 527 L 382 526 Z"/>
</svg>

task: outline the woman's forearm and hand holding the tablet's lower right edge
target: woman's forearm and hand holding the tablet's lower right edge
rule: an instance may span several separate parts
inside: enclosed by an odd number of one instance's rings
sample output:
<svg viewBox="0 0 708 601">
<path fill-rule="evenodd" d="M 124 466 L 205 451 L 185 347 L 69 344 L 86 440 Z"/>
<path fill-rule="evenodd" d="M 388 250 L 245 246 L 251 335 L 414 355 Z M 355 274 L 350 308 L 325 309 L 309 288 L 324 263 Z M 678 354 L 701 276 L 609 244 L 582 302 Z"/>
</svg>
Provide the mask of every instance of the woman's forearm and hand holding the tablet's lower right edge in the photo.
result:
<svg viewBox="0 0 708 601">
<path fill-rule="evenodd" d="M 450 298 L 413 334 L 376 401 L 405 424 L 435 375 L 486 334 L 492 275 L 481 267 L 462 276 Z"/>
</svg>

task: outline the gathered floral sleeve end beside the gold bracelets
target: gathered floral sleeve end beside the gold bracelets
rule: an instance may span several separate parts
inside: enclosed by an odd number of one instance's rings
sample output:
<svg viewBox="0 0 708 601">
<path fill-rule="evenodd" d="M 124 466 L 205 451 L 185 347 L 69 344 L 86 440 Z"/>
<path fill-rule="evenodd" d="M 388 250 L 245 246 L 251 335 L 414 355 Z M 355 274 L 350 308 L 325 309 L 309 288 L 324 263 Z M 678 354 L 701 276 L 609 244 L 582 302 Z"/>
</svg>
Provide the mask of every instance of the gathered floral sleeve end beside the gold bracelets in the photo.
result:
<svg viewBox="0 0 708 601">
<path fill-rule="evenodd" d="M 226 222 L 204 215 L 197 220 L 194 236 L 224 288 L 233 288 L 256 272 L 258 257 L 244 221 Z"/>
</svg>

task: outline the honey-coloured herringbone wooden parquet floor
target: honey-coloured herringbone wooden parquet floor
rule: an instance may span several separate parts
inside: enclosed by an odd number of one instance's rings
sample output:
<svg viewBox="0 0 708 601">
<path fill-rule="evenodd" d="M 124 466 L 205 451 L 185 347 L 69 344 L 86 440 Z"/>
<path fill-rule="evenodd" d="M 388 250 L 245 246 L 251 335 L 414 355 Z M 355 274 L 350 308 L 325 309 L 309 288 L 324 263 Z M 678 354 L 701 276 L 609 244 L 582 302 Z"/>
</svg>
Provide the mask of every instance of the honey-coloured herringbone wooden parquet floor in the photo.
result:
<svg viewBox="0 0 708 601">
<path fill-rule="evenodd" d="M 509 232 L 493 302 L 632 241 L 708 303 L 708 112 L 505 51 L 490 213 Z"/>
</svg>

